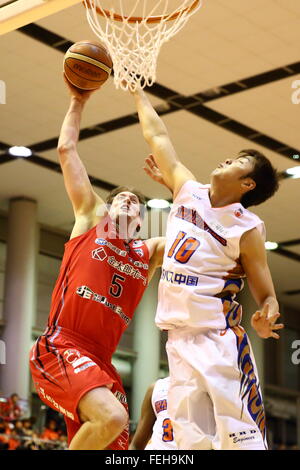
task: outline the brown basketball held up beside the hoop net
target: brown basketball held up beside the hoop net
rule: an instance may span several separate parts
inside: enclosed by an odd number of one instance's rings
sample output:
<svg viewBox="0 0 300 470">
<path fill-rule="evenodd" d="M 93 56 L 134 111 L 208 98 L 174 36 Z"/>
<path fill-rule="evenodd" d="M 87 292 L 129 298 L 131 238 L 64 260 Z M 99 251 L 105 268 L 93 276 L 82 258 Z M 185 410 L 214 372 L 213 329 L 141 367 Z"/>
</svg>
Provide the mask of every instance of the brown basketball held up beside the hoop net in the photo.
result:
<svg viewBox="0 0 300 470">
<path fill-rule="evenodd" d="M 64 57 L 64 72 L 72 85 L 81 90 L 96 90 L 106 82 L 112 71 L 107 49 L 95 41 L 73 44 Z"/>
</svg>

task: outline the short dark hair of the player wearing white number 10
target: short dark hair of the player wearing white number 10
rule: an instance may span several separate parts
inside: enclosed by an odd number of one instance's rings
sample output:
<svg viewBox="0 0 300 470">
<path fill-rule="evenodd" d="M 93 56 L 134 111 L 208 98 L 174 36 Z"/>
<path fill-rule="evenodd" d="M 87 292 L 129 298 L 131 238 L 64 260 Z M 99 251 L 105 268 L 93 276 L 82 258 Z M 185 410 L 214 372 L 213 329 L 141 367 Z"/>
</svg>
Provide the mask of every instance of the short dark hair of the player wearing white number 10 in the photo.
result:
<svg viewBox="0 0 300 470">
<path fill-rule="evenodd" d="M 276 193 L 279 188 L 279 174 L 270 160 L 258 150 L 241 150 L 239 156 L 243 155 L 249 155 L 254 159 L 253 170 L 243 178 L 252 178 L 256 186 L 244 194 L 240 202 L 244 207 L 257 206 Z"/>
</svg>

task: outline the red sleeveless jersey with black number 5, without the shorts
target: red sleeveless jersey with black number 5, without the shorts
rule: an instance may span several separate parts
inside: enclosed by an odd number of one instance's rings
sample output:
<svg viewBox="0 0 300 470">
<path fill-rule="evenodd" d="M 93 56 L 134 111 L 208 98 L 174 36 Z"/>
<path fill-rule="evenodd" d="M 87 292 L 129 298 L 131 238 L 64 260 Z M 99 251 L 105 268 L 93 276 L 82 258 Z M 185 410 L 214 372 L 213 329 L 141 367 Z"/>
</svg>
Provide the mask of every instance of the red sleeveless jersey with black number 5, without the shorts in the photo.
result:
<svg viewBox="0 0 300 470">
<path fill-rule="evenodd" d="M 69 240 L 52 294 L 48 339 L 52 328 L 54 337 L 67 329 L 113 354 L 147 287 L 148 265 L 143 241 L 98 238 L 97 226 Z"/>
</svg>

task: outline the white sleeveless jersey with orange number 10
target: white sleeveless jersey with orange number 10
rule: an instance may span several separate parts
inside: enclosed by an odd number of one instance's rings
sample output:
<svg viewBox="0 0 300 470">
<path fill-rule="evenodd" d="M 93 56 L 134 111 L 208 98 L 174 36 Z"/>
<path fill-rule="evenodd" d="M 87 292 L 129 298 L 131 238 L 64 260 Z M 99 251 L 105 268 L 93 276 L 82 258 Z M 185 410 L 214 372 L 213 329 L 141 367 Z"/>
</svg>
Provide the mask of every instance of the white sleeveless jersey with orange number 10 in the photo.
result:
<svg viewBox="0 0 300 470">
<path fill-rule="evenodd" d="M 265 227 L 240 203 L 212 207 L 209 188 L 187 181 L 169 214 L 155 318 L 162 329 L 223 330 L 241 321 L 240 239 L 254 227 L 265 239 Z"/>
</svg>

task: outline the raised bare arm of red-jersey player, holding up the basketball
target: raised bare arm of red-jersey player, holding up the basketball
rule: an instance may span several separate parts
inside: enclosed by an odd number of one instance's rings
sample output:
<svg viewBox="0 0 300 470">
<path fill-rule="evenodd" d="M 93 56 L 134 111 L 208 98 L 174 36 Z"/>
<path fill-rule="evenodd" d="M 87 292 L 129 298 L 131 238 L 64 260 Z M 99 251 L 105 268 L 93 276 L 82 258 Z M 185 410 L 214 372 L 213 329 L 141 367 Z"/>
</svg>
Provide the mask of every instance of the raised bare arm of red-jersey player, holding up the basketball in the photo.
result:
<svg viewBox="0 0 300 470">
<path fill-rule="evenodd" d="M 57 147 L 59 161 L 76 220 L 80 217 L 93 218 L 96 208 L 104 202 L 94 192 L 77 152 L 82 110 L 91 92 L 80 92 L 67 81 L 66 84 L 71 102 L 60 131 Z"/>
</svg>

